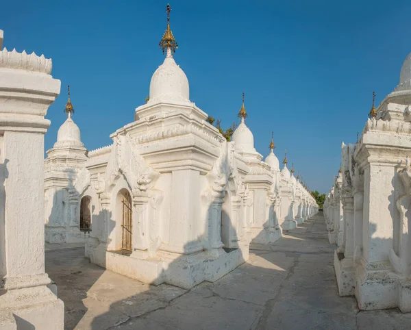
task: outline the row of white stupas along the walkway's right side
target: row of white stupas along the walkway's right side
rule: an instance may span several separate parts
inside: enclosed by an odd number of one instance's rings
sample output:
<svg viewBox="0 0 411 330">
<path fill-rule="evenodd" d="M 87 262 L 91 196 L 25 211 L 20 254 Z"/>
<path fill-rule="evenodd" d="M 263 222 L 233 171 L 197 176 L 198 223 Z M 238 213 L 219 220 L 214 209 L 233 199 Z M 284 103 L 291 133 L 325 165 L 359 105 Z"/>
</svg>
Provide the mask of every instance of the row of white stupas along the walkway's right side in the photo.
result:
<svg viewBox="0 0 411 330">
<path fill-rule="evenodd" d="M 373 100 L 375 93 L 373 93 Z M 360 309 L 411 312 L 411 54 L 397 88 L 375 109 L 324 203 L 340 296 Z"/>
</svg>

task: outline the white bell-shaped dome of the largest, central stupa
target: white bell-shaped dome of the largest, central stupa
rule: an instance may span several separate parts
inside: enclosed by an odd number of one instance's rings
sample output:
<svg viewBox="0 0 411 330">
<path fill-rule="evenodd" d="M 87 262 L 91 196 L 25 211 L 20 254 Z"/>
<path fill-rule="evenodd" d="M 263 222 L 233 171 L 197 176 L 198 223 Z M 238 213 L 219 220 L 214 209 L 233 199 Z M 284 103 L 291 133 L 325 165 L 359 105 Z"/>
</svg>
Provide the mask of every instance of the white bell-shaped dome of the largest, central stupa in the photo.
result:
<svg viewBox="0 0 411 330">
<path fill-rule="evenodd" d="M 152 101 L 190 101 L 188 79 L 184 71 L 175 63 L 171 49 L 167 49 L 163 64 L 151 77 L 149 102 Z"/>
</svg>

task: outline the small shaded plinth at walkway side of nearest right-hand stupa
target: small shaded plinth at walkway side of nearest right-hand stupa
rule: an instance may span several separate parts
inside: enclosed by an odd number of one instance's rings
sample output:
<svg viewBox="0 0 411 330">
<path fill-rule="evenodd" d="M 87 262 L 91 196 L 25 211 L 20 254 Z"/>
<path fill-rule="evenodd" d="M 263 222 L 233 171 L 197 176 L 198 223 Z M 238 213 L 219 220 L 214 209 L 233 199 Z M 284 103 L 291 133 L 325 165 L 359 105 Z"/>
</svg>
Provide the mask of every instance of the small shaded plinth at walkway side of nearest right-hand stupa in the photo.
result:
<svg viewBox="0 0 411 330">
<path fill-rule="evenodd" d="M 336 271 L 338 294 L 340 296 L 353 296 L 356 288 L 356 269 L 353 259 L 339 259 L 338 252 L 334 251 L 334 269 Z"/>
</svg>

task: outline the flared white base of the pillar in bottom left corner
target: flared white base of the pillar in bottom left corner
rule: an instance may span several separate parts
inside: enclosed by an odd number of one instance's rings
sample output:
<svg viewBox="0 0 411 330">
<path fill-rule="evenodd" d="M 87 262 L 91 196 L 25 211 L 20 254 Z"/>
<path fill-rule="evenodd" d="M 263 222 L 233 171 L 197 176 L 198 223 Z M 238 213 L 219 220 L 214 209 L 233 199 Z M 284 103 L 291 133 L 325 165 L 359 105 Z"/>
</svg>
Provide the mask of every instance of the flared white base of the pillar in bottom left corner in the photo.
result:
<svg viewBox="0 0 411 330">
<path fill-rule="evenodd" d="M 64 328 L 64 304 L 46 285 L 8 290 L 0 296 L 0 329 Z"/>
</svg>

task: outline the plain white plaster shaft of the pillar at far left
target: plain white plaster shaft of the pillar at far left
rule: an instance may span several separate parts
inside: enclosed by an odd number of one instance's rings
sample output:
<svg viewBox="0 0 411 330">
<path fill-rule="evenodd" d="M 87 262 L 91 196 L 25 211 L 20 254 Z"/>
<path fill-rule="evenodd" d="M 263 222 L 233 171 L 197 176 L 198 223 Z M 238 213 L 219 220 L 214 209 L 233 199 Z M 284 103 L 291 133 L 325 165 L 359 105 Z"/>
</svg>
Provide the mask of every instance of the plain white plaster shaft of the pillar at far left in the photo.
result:
<svg viewBox="0 0 411 330">
<path fill-rule="evenodd" d="M 42 134 L 5 131 L 4 143 L 6 160 L 10 160 L 5 179 L 5 218 L 43 219 L 45 210 Z M 44 273 L 44 223 L 41 220 L 27 223 L 9 221 L 7 225 L 7 236 L 12 238 L 8 240 L 8 244 L 12 246 L 6 251 L 7 276 L 22 277 Z"/>
</svg>

